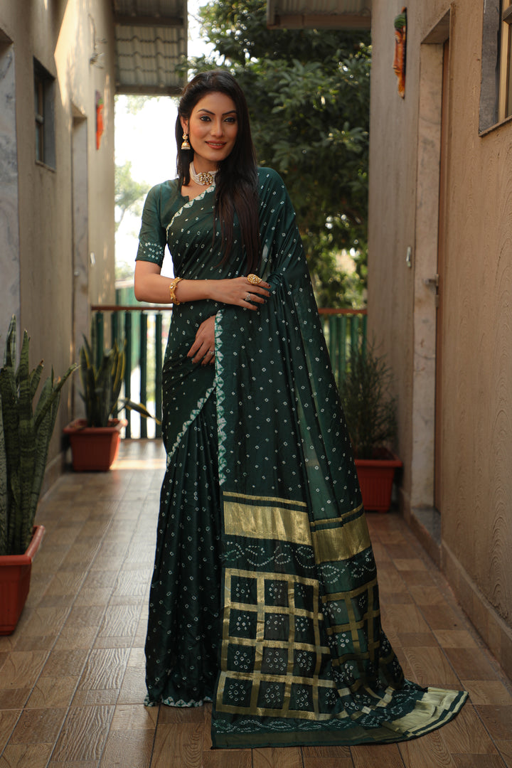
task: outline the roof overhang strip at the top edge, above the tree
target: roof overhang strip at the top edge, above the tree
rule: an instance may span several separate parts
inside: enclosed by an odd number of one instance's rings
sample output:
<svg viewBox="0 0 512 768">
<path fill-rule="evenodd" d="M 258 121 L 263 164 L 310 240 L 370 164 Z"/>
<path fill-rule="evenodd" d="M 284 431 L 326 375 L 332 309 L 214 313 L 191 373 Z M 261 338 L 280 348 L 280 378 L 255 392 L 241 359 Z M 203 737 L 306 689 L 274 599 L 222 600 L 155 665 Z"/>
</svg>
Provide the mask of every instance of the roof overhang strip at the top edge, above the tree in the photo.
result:
<svg viewBox="0 0 512 768">
<path fill-rule="evenodd" d="M 267 0 L 270 28 L 361 28 L 372 24 L 372 0 Z"/>
</svg>

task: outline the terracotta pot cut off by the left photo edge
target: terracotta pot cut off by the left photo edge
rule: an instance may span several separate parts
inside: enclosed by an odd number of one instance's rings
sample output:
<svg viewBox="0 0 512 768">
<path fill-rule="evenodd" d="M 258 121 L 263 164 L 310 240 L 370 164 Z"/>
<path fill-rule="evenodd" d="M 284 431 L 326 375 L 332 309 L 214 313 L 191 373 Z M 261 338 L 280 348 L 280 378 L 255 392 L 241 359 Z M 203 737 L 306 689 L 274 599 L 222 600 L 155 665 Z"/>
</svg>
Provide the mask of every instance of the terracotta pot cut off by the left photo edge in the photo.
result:
<svg viewBox="0 0 512 768">
<path fill-rule="evenodd" d="M 25 554 L 0 555 L 0 634 L 12 634 L 30 589 L 32 560 L 38 551 L 44 525 L 35 525 Z"/>
</svg>

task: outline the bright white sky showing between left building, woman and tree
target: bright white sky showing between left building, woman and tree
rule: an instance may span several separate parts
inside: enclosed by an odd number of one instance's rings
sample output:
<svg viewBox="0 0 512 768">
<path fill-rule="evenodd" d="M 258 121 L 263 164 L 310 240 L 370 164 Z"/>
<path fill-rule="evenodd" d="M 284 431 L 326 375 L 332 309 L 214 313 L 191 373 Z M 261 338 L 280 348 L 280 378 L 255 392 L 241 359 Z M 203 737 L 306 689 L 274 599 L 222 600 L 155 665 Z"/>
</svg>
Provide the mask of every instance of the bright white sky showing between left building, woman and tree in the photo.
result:
<svg viewBox="0 0 512 768">
<path fill-rule="evenodd" d="M 197 9 L 204 0 L 188 0 L 190 56 L 208 53 L 211 45 L 200 38 L 196 21 Z M 116 165 L 131 163 L 135 180 L 148 187 L 176 177 L 176 139 L 174 126 L 177 118 L 177 99 L 160 97 L 148 99 L 137 114 L 126 109 L 127 97 L 119 96 L 115 111 L 115 162 Z M 137 253 L 139 217 L 126 214 L 116 234 L 116 263 L 134 264 Z M 172 275 L 167 255 L 163 274 Z"/>
</svg>

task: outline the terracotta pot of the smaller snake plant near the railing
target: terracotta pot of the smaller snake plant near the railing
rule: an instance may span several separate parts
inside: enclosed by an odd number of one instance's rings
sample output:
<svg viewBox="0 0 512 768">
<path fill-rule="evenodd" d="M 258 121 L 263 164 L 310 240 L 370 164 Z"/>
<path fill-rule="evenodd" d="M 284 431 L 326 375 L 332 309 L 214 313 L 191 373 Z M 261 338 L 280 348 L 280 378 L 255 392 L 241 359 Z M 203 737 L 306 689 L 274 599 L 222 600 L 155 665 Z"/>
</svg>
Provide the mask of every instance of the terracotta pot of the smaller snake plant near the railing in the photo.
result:
<svg viewBox="0 0 512 768">
<path fill-rule="evenodd" d="M 121 429 L 126 419 L 111 419 L 107 427 L 88 427 L 86 419 L 75 419 L 64 427 L 69 435 L 75 472 L 107 472 L 117 458 Z"/>
</svg>

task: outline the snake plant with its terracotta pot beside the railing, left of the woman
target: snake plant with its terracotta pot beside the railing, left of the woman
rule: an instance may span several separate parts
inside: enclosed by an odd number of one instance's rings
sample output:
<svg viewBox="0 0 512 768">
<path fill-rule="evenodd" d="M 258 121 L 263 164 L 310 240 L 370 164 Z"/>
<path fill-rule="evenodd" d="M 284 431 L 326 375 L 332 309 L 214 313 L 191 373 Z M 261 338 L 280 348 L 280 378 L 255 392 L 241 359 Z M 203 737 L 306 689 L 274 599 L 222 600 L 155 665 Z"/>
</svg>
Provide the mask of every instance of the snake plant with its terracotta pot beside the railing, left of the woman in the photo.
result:
<svg viewBox="0 0 512 768">
<path fill-rule="evenodd" d="M 84 336 L 80 349 L 81 399 L 85 406 L 85 419 L 74 419 L 64 427 L 69 436 L 72 462 L 75 472 L 106 472 L 111 468 L 119 452 L 121 429 L 126 419 L 114 416 L 120 408 L 132 409 L 144 418 L 154 418 L 141 403 L 120 399 L 126 367 L 126 341 L 120 348 L 117 342 L 103 353 L 96 366 L 96 337 L 92 342 Z"/>
</svg>

